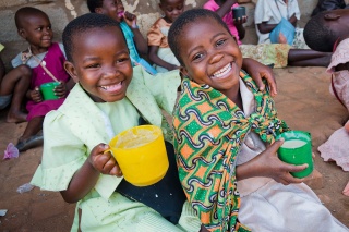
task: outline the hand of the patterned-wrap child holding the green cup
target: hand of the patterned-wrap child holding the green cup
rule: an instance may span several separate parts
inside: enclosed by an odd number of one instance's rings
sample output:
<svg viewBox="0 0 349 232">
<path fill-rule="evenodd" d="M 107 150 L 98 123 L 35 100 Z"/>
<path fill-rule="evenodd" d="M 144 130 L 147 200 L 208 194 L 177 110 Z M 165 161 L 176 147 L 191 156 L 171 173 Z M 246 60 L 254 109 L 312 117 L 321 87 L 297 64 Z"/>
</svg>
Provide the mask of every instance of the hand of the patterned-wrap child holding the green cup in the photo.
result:
<svg viewBox="0 0 349 232">
<path fill-rule="evenodd" d="M 302 171 L 308 168 L 308 164 L 293 166 L 282 162 L 277 157 L 277 150 L 282 144 L 284 139 L 275 142 L 266 150 L 254 158 L 255 160 L 253 159 L 257 166 L 258 173 L 262 176 L 273 178 L 276 182 L 285 185 L 303 182 L 303 179 L 293 178 L 290 172 Z"/>
</svg>

